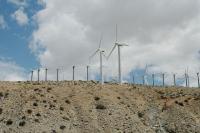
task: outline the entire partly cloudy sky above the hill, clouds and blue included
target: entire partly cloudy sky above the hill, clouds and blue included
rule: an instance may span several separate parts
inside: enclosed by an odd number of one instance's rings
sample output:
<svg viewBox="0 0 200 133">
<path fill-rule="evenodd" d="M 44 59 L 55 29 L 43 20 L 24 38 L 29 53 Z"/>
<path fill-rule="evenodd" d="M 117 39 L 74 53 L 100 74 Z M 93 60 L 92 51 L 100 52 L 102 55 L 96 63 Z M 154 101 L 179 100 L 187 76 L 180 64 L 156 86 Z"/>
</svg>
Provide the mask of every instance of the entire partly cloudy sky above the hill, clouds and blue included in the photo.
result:
<svg viewBox="0 0 200 133">
<path fill-rule="evenodd" d="M 191 85 L 200 71 L 200 0 L 0 0 L 0 79 L 27 80 L 30 70 L 49 68 L 49 79 L 56 69 L 61 79 L 98 79 L 99 55 L 89 62 L 98 48 L 108 54 L 116 40 L 121 48 L 124 81 L 146 71 L 166 82 L 184 80 Z M 106 80 L 118 73 L 117 50 L 103 59 Z M 41 69 L 43 70 L 43 69 Z M 44 77 L 44 71 L 41 72 Z M 36 73 L 35 73 L 36 78 Z M 148 78 L 147 78 L 148 79 Z M 150 81 L 149 81 L 150 82 Z"/>
</svg>

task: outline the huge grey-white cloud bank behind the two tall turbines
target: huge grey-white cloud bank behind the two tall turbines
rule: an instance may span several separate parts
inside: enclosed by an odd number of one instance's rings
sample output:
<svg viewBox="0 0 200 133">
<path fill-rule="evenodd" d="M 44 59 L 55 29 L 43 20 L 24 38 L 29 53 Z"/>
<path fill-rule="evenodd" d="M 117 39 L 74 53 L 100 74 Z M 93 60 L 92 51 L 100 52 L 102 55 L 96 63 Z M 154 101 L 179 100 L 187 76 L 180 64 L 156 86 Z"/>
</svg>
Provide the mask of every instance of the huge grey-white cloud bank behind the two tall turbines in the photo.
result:
<svg viewBox="0 0 200 133">
<path fill-rule="evenodd" d="M 71 79 L 72 65 L 85 78 L 88 57 L 98 47 L 110 51 L 118 24 L 122 48 L 122 72 L 150 65 L 149 73 L 184 73 L 189 67 L 199 71 L 200 3 L 196 0 L 43 0 L 45 8 L 35 15 L 38 29 L 33 32 L 31 50 L 42 67 L 62 67 Z M 59 9 L 59 10 L 58 10 Z M 40 51 L 42 49 L 42 51 Z M 40 51 L 40 52 L 38 52 Z M 91 71 L 98 73 L 99 57 Z M 117 76 L 117 53 L 104 59 L 105 76 Z M 95 76 L 93 76 L 95 77 Z"/>
</svg>

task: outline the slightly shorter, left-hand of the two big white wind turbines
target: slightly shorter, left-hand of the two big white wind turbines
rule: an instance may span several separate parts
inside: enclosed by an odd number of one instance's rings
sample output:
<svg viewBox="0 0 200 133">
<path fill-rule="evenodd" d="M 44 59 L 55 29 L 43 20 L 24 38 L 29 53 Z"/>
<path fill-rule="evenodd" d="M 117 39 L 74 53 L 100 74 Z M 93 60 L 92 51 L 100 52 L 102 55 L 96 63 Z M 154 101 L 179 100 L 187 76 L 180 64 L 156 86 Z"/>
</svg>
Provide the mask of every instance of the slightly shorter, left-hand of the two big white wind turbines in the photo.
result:
<svg viewBox="0 0 200 133">
<path fill-rule="evenodd" d="M 102 56 L 105 56 L 104 55 L 104 50 L 101 49 L 101 41 L 102 41 L 102 35 L 101 35 L 101 38 L 100 38 L 100 41 L 99 41 L 99 47 L 98 49 L 94 52 L 94 54 L 92 54 L 90 56 L 90 60 L 92 57 L 94 57 L 98 52 L 99 52 L 99 55 L 100 55 L 100 77 L 101 77 L 101 84 L 104 84 L 104 79 L 103 79 L 103 63 L 102 63 Z"/>
</svg>

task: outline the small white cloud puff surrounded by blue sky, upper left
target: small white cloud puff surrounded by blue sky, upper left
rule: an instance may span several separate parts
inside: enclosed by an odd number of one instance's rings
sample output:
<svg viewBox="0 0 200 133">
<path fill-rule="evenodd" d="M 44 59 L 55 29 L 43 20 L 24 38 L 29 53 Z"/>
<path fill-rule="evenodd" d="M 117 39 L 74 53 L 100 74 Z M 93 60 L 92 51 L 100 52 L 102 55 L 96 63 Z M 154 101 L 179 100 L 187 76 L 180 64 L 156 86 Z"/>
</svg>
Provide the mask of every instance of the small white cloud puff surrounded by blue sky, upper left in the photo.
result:
<svg viewBox="0 0 200 133">
<path fill-rule="evenodd" d="M 19 8 L 17 11 L 15 11 L 12 15 L 12 18 L 15 19 L 17 21 L 17 23 L 20 26 L 24 26 L 28 24 L 28 16 L 27 14 L 24 12 L 24 8 Z"/>
</svg>

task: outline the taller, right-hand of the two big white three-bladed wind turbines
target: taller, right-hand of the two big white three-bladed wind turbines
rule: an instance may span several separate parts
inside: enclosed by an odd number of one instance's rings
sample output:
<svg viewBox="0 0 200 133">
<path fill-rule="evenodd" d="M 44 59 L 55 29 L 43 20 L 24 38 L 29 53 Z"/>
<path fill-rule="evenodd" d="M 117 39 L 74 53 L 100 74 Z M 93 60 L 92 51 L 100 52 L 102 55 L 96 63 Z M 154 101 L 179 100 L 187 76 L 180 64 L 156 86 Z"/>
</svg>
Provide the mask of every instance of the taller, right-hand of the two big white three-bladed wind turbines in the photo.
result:
<svg viewBox="0 0 200 133">
<path fill-rule="evenodd" d="M 122 47 L 122 46 L 128 46 L 127 44 L 125 44 L 125 43 L 119 43 L 118 42 L 118 40 L 117 40 L 117 25 L 116 25 L 116 41 L 115 41 L 115 43 L 114 43 L 114 46 L 113 46 L 113 48 L 112 48 L 112 50 L 111 50 L 111 52 L 110 52 L 110 54 L 108 55 L 108 59 L 109 59 L 109 57 L 111 56 L 111 54 L 112 54 L 112 52 L 115 50 L 115 48 L 117 47 L 118 48 L 118 81 L 119 81 L 119 83 L 120 84 L 122 84 L 122 74 L 121 74 L 121 50 L 120 50 L 120 48 Z"/>
</svg>

